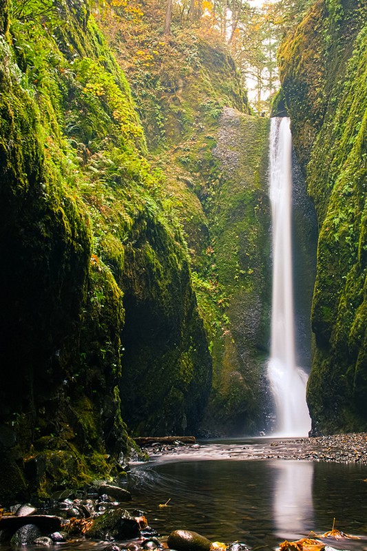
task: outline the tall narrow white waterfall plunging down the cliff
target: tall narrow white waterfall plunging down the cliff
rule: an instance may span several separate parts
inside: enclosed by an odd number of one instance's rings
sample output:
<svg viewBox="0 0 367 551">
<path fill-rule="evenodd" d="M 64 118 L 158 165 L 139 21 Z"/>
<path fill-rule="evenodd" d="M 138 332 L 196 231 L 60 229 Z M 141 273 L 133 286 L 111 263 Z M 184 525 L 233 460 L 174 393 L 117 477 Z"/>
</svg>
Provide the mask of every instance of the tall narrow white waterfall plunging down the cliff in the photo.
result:
<svg viewBox="0 0 367 551">
<path fill-rule="evenodd" d="M 307 436 L 307 375 L 295 364 L 292 283 L 292 136 L 289 118 L 271 119 L 270 200 L 273 224 L 273 298 L 268 378 L 280 437 Z"/>
</svg>

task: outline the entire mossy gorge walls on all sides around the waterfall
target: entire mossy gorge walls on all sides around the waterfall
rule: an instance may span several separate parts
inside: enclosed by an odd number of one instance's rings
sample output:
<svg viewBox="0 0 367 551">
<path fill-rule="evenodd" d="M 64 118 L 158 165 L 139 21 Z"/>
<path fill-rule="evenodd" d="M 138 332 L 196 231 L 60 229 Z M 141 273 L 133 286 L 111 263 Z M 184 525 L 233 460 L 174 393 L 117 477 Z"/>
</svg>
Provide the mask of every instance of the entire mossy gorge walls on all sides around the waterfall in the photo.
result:
<svg viewBox="0 0 367 551">
<path fill-rule="evenodd" d="M 367 8 L 245 4 L 0 1 L 2 504 L 125 477 L 136 437 L 271 433 L 268 112 L 311 433 L 367 429 Z"/>
</svg>

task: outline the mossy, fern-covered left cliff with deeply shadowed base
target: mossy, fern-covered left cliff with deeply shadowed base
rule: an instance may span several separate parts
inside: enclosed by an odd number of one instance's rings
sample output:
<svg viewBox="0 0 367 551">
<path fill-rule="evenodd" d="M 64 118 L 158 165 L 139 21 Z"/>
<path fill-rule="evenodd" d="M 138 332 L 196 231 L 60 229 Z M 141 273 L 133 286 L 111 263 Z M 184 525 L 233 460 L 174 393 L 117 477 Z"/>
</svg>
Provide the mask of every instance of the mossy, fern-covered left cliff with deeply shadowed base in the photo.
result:
<svg viewBox="0 0 367 551">
<path fill-rule="evenodd" d="M 211 359 L 165 178 L 145 160 L 129 86 L 87 3 L 0 8 L 6 501 L 118 472 L 130 445 L 121 399 L 154 331 L 150 386 L 134 392 L 155 396 L 164 371 L 171 394 L 154 415 L 169 411 L 168 431 L 185 416 L 196 430 Z"/>
</svg>

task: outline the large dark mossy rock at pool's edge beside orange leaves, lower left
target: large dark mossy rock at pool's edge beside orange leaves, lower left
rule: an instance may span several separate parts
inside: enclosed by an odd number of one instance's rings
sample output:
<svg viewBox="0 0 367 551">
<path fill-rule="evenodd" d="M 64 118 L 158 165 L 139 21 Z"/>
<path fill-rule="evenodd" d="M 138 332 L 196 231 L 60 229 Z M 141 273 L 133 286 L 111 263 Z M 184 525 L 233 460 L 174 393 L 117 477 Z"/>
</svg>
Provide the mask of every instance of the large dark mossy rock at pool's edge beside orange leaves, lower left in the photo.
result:
<svg viewBox="0 0 367 551">
<path fill-rule="evenodd" d="M 94 525 L 85 533 L 94 539 L 129 539 L 140 537 L 139 525 L 128 511 L 112 509 L 94 519 Z"/>
</svg>

